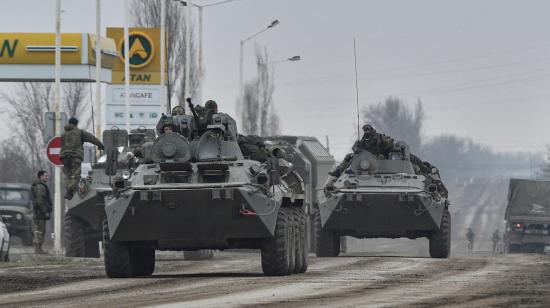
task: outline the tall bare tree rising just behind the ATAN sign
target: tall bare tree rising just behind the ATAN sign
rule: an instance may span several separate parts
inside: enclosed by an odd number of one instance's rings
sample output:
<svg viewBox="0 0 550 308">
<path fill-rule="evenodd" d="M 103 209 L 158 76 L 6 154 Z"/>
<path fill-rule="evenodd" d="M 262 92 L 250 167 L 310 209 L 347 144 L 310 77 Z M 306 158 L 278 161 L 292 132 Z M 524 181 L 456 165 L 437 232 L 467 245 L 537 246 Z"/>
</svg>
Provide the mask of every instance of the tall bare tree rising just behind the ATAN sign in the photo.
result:
<svg viewBox="0 0 550 308">
<path fill-rule="evenodd" d="M 185 63 L 186 62 L 186 22 L 184 8 L 180 2 L 166 2 L 166 46 L 168 63 L 168 96 L 180 105 L 185 104 Z M 160 0 L 134 0 L 130 14 L 136 27 L 160 27 Z M 189 23 L 190 24 L 190 23 Z M 191 30 L 193 27 L 191 26 Z M 193 31 L 191 31 L 193 33 Z M 192 96 L 196 95 L 199 85 L 199 70 L 195 39 L 190 38 L 189 87 Z"/>
</svg>

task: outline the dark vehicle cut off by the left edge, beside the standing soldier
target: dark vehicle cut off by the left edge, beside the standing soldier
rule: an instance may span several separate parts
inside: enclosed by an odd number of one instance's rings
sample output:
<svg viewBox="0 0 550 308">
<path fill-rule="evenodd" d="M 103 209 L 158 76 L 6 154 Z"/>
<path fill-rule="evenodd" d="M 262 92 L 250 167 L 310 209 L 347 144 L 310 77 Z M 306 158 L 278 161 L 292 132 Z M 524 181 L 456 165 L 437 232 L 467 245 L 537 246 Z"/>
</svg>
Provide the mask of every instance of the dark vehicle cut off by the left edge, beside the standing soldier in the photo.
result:
<svg viewBox="0 0 550 308">
<path fill-rule="evenodd" d="M 32 246 L 31 185 L 0 183 L 0 216 L 12 236 L 21 238 L 23 245 Z"/>
</svg>

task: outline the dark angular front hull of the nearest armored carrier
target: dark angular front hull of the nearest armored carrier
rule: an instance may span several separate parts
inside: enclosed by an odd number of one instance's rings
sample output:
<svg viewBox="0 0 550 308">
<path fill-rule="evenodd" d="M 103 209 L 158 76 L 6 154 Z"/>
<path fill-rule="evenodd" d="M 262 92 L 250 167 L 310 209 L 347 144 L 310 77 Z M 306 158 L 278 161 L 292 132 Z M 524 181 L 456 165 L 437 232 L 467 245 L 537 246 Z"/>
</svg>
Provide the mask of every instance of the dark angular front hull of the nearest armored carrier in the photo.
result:
<svg viewBox="0 0 550 308">
<path fill-rule="evenodd" d="M 257 190 L 245 183 L 128 190 L 107 203 L 111 239 L 153 241 L 158 249 L 259 248 L 253 240 L 273 236 L 283 193 Z"/>
</svg>

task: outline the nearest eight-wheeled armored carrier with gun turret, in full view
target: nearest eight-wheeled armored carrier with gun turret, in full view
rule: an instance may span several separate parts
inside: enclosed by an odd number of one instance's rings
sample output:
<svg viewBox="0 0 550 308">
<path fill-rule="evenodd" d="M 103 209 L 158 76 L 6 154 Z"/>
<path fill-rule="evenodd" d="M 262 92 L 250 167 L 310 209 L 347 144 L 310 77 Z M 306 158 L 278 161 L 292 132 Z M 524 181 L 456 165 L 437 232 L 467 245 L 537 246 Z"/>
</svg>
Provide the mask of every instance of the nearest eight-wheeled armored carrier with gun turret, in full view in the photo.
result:
<svg viewBox="0 0 550 308">
<path fill-rule="evenodd" d="M 284 159 L 245 159 L 235 121 L 208 118 L 163 116 L 158 130 L 168 133 L 144 144 L 141 164 L 113 184 L 103 222 L 108 277 L 151 275 L 155 250 L 261 249 L 266 275 L 307 269 L 302 179 Z"/>
</svg>

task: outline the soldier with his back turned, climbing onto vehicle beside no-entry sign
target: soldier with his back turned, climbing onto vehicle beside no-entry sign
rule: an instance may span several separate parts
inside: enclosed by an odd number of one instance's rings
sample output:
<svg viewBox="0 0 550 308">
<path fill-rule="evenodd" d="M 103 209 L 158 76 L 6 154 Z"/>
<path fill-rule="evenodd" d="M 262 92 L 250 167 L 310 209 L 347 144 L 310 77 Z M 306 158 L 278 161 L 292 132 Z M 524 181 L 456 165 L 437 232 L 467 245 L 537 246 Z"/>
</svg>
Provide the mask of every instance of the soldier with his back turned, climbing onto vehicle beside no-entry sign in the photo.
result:
<svg viewBox="0 0 550 308">
<path fill-rule="evenodd" d="M 84 142 L 95 144 L 100 150 L 104 149 L 103 143 L 94 135 L 78 128 L 78 120 L 70 118 L 65 126 L 65 132 L 61 136 L 61 161 L 65 174 L 65 199 L 73 198 L 78 182 L 80 181 L 80 164 L 84 158 Z"/>
</svg>

